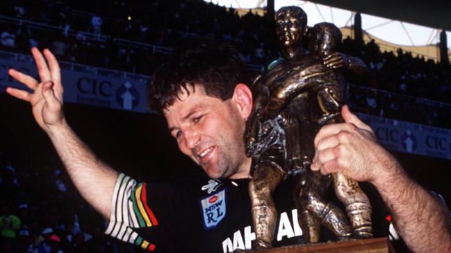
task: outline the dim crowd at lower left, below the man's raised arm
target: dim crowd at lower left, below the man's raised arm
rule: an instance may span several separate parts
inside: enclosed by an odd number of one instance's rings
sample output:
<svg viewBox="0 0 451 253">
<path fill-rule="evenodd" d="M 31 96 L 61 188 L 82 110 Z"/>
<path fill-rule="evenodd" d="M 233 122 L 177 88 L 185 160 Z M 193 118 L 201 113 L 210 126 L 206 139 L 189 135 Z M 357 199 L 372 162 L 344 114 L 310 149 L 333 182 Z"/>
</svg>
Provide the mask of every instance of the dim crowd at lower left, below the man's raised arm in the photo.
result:
<svg viewBox="0 0 451 253">
<path fill-rule="evenodd" d="M 0 152 L 0 252 L 144 252 L 104 234 L 104 219 L 56 162 L 24 165 Z"/>
</svg>

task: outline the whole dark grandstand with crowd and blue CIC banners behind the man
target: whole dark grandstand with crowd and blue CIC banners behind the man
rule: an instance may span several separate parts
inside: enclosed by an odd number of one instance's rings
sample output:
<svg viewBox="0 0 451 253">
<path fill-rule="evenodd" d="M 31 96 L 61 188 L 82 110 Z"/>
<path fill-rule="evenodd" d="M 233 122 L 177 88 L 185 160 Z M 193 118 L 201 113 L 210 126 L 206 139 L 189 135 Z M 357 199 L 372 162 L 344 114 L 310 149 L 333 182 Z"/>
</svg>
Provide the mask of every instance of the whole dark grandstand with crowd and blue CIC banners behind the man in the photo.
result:
<svg viewBox="0 0 451 253">
<path fill-rule="evenodd" d="M 0 205 L 21 218 L 19 231 L 28 232 L 17 240 L 35 243 L 33 236 L 52 227 L 59 229 L 64 252 L 140 252 L 102 235 L 102 218 L 74 190 L 28 105 L 3 93 L 17 85 L 8 78 L 8 68 L 35 75 L 31 46 L 49 48 L 61 61 L 65 114 L 99 157 L 142 180 L 177 182 L 201 171 L 177 150 L 164 119 L 147 110 L 151 74 L 177 47 L 199 38 L 230 42 L 257 73 L 279 56 L 269 27 L 253 11 L 238 15 L 234 8 L 200 0 L 1 2 Z M 343 34 L 352 35 L 349 29 Z M 377 127 L 379 141 L 413 178 L 441 193 L 451 207 L 450 64 L 406 47 L 387 51 L 366 38 L 359 44 L 345 37 L 341 48 L 364 60 L 371 72 L 367 82 L 350 85 L 352 110 Z M 118 94 L 128 94 L 129 100 Z M 404 128 L 418 132 L 416 139 L 425 135 L 427 143 L 403 149 Z M 6 212 L 1 211 L 0 216 Z M 23 245 L 3 240 L 0 252 L 27 252 Z"/>
</svg>

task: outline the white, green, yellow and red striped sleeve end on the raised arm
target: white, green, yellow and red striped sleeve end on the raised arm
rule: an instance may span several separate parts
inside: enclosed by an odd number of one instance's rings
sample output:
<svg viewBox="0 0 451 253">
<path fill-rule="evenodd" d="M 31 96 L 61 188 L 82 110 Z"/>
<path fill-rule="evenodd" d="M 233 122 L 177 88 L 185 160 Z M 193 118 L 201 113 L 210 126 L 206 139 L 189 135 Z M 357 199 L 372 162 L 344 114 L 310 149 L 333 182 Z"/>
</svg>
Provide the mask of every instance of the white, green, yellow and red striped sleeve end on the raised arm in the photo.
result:
<svg viewBox="0 0 451 253">
<path fill-rule="evenodd" d="M 158 226 L 158 220 L 147 204 L 147 184 L 138 184 L 121 173 L 114 187 L 111 216 L 105 234 L 153 251 L 155 245 L 142 238 L 136 229 L 154 226 Z"/>
</svg>

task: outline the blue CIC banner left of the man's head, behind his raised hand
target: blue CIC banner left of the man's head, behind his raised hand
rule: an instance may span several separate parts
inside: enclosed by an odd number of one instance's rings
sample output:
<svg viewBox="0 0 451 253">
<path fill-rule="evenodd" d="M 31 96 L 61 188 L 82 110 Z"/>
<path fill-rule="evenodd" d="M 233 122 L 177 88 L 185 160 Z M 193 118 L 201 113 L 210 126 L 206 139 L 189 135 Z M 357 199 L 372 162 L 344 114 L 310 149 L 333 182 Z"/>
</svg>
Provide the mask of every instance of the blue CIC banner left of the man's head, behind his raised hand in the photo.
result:
<svg viewBox="0 0 451 253">
<path fill-rule="evenodd" d="M 65 103 L 94 105 L 132 112 L 148 112 L 148 76 L 133 75 L 121 71 L 110 71 L 80 64 L 61 62 L 61 75 L 65 89 Z M 0 91 L 6 87 L 26 89 L 8 75 L 14 68 L 38 78 L 33 58 L 16 53 L 0 53 Z"/>
</svg>

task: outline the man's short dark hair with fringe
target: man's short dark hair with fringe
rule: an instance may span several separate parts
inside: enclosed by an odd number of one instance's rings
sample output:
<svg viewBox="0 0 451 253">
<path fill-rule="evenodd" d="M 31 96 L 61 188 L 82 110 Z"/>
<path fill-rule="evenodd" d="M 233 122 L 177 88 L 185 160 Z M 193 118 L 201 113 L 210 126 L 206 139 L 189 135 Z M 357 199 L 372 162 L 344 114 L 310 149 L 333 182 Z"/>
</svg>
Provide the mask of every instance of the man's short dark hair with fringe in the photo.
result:
<svg viewBox="0 0 451 253">
<path fill-rule="evenodd" d="M 149 82 L 150 110 L 163 112 L 179 98 L 182 89 L 203 87 L 208 96 L 223 101 L 233 96 L 238 83 L 251 82 L 245 61 L 229 44 L 198 44 L 174 53 Z M 189 94 L 189 93 L 188 93 Z"/>
</svg>

